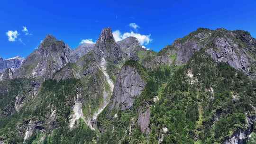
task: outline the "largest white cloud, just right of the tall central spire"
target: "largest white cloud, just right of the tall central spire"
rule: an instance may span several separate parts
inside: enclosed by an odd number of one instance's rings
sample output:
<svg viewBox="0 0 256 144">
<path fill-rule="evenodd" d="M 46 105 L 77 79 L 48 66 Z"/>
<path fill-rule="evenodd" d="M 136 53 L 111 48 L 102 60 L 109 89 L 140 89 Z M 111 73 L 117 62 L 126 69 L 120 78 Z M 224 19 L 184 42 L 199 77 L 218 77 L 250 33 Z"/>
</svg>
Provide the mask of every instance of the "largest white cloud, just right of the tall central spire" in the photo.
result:
<svg viewBox="0 0 256 144">
<path fill-rule="evenodd" d="M 119 30 L 116 30 L 113 32 L 113 36 L 117 42 L 120 40 L 123 40 L 129 36 L 133 36 L 133 37 L 137 38 L 140 45 L 147 45 L 152 41 L 152 39 L 150 38 L 151 35 L 141 35 L 139 33 L 133 32 L 133 31 L 131 31 L 130 33 L 126 32 L 122 35 L 122 33 Z"/>
</svg>

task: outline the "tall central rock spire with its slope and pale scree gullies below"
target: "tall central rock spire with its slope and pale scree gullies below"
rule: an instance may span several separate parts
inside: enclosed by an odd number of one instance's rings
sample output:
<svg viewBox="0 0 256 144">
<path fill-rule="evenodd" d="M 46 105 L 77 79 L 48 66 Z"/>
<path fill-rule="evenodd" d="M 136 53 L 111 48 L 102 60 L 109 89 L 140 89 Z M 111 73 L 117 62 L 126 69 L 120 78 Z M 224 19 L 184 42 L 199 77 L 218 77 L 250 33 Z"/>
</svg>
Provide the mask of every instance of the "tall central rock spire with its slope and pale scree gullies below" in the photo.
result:
<svg viewBox="0 0 256 144">
<path fill-rule="evenodd" d="M 82 89 L 87 91 L 86 94 L 75 98 L 70 127 L 73 127 L 75 121 L 82 118 L 92 130 L 95 129 L 94 123 L 110 101 L 114 88 L 114 76 L 119 72 L 118 66 L 114 63 L 121 64 L 121 62 L 119 58 L 111 55 L 117 50 L 123 54 L 113 39 L 111 29 L 103 29 L 95 47 L 90 52 L 82 56 L 76 63 L 68 64 L 55 73 L 54 79 L 56 80 L 80 79 L 83 82 Z M 99 53 L 100 55 L 98 55 Z"/>
</svg>

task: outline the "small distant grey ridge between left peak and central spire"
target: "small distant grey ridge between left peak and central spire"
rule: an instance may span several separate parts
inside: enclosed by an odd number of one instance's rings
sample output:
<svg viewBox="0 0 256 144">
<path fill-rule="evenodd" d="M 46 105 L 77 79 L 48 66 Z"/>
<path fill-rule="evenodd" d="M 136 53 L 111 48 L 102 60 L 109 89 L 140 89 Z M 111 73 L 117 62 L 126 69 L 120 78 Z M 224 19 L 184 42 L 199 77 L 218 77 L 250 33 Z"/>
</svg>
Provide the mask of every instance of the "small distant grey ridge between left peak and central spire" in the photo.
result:
<svg viewBox="0 0 256 144">
<path fill-rule="evenodd" d="M 72 55 L 73 62 L 75 63 L 83 55 L 89 53 L 94 48 L 94 46 L 95 46 L 95 44 L 86 44 L 86 43 L 83 43 L 82 45 L 79 45 L 73 51 L 73 55 Z"/>
</svg>

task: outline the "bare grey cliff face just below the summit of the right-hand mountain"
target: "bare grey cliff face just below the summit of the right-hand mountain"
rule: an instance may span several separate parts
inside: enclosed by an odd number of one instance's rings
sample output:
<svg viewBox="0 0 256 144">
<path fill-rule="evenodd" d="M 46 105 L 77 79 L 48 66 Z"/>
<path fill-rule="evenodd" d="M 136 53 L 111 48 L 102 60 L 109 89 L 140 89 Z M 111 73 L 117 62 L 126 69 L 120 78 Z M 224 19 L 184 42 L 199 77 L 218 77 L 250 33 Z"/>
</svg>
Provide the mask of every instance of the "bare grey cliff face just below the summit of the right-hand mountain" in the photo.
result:
<svg viewBox="0 0 256 144">
<path fill-rule="evenodd" d="M 239 39 L 242 37 L 238 37 L 239 34 L 236 33 L 236 31 L 227 31 L 225 29 L 215 31 L 211 43 L 209 44 L 210 46 L 208 46 L 209 48 L 206 49 L 206 52 L 210 54 L 216 62 L 228 63 L 235 69 L 249 74 L 251 63 L 255 62 L 248 51 L 253 44 L 246 45 L 246 43 L 243 42 L 243 39 Z M 252 37 L 251 41 L 253 41 Z"/>
</svg>

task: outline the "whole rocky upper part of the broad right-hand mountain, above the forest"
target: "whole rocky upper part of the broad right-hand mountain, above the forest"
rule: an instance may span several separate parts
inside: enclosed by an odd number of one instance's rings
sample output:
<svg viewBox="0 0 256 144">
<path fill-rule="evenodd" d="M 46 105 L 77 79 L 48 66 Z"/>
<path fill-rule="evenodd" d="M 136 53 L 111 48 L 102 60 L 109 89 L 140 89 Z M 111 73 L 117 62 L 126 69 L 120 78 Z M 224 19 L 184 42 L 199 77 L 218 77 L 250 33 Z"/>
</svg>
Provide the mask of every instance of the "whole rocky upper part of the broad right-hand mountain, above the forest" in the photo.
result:
<svg viewBox="0 0 256 144">
<path fill-rule="evenodd" d="M 218 63 L 228 63 L 235 69 L 256 77 L 256 39 L 246 31 L 199 28 L 188 36 L 177 39 L 160 54 L 176 54 L 175 64 L 181 65 L 187 63 L 192 55 L 200 50 L 205 50 Z M 161 61 L 165 63 L 166 59 Z"/>
</svg>

